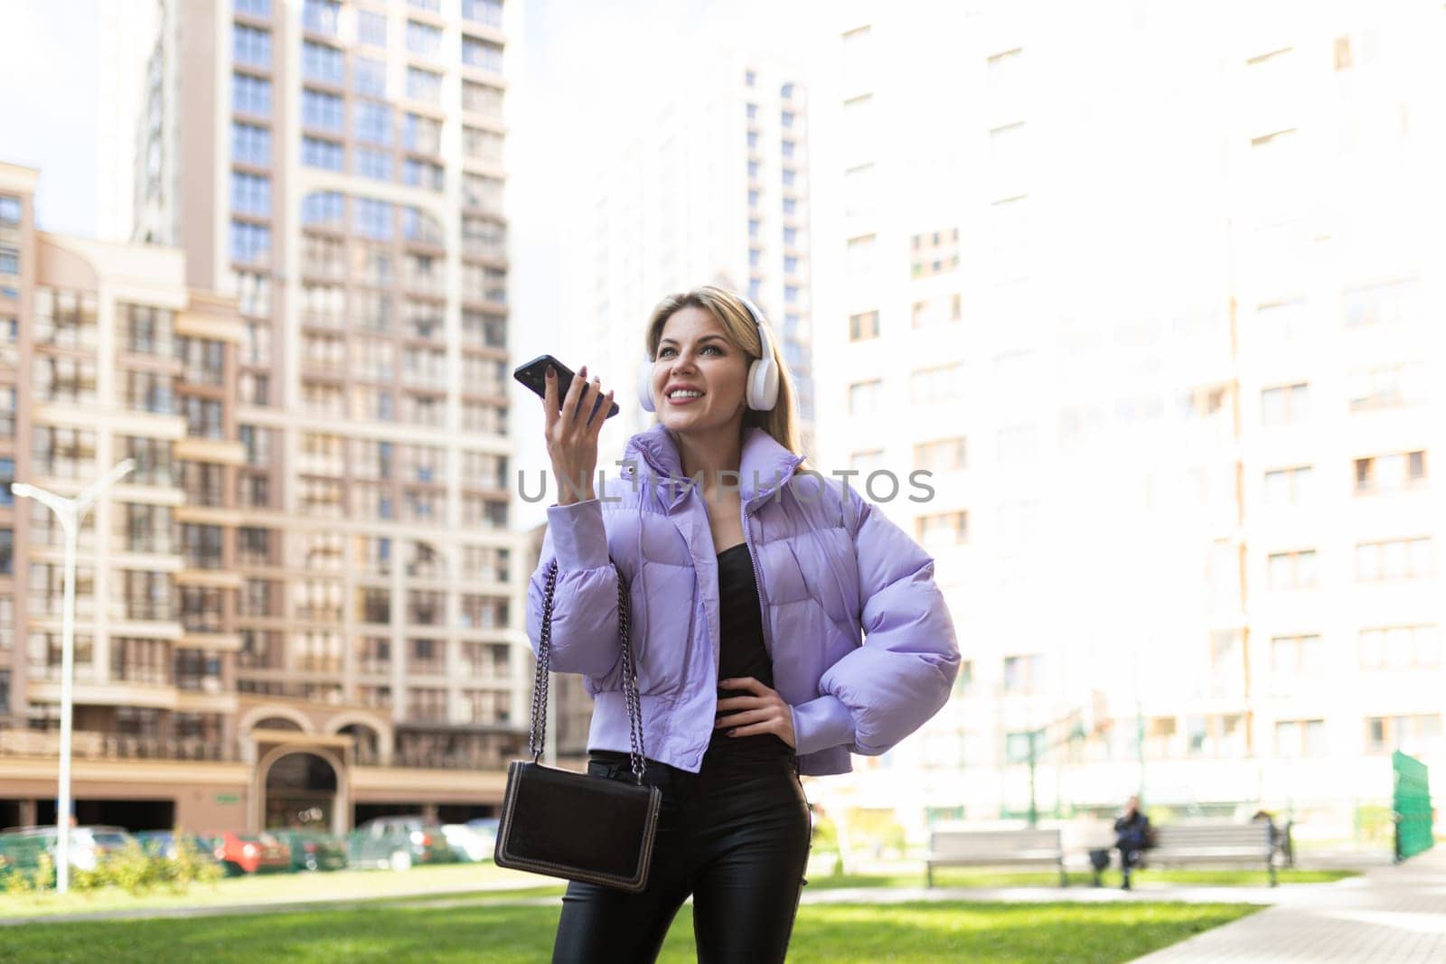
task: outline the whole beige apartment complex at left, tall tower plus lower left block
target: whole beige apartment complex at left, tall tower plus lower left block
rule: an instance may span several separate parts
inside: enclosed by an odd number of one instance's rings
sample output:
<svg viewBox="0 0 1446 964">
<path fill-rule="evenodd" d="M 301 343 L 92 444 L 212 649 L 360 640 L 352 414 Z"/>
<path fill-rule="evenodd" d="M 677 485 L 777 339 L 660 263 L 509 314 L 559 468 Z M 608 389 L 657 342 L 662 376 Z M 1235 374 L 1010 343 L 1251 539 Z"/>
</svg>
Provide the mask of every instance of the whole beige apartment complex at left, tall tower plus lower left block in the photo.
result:
<svg viewBox="0 0 1446 964">
<path fill-rule="evenodd" d="M 93 357 L 59 361 L 62 387 L 40 369 L 17 386 L 78 397 L 90 371 L 85 426 L 12 405 L 14 477 L 81 487 L 132 438 L 150 465 L 145 493 L 137 471 L 94 512 L 114 539 L 81 543 L 82 597 L 116 600 L 77 637 L 101 673 L 77 689 L 81 821 L 260 828 L 318 822 L 321 805 L 346 830 L 500 804 L 531 691 L 506 435 L 503 51 L 519 13 L 156 3 L 143 62 L 111 65 L 142 90 L 134 194 L 117 205 L 133 244 L 36 234 L 30 188 L 6 188 L 22 211 L 17 370 L 49 350 L 32 318 L 51 292 L 80 292 L 93 318 Z M 46 254 L 64 246 L 81 254 Z M 88 285 L 56 273 L 81 259 Z M 117 272 L 156 293 L 137 301 Z M 156 309 L 136 335 L 149 354 L 113 376 L 133 304 Z M 4 824 L 54 815 L 61 587 L 42 523 L 9 526 L 27 581 L 0 620 L 16 626 Z"/>
</svg>

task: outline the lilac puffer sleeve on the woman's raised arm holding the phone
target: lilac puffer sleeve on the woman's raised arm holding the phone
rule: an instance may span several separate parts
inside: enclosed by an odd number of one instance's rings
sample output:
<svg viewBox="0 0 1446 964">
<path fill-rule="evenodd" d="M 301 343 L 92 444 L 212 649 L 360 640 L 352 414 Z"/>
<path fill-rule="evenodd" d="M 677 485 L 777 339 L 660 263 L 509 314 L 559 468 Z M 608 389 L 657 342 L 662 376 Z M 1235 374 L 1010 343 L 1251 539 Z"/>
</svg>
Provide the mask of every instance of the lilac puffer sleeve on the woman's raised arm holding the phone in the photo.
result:
<svg viewBox="0 0 1446 964">
<path fill-rule="evenodd" d="M 617 571 L 607 556 L 607 532 L 599 499 L 548 506 L 542 554 L 528 584 L 528 642 L 538 655 L 542 639 L 542 594 L 547 571 L 557 559 L 552 591 L 554 672 L 583 673 L 594 682 L 622 672 L 617 636 Z"/>
</svg>

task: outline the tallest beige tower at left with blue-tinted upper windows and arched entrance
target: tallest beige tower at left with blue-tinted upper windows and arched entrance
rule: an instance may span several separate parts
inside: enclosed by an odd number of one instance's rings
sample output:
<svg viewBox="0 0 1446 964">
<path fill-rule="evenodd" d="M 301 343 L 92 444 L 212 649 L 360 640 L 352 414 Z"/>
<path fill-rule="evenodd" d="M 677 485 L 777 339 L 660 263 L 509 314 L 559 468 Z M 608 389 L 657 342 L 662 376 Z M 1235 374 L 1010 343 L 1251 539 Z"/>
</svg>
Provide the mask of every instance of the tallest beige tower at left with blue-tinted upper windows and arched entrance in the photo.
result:
<svg viewBox="0 0 1446 964">
<path fill-rule="evenodd" d="M 295 821 L 317 795 L 335 828 L 482 815 L 525 744 L 503 205 L 519 17 L 502 0 L 153 6 L 130 72 L 132 237 L 182 249 L 184 283 L 239 315 L 230 461 L 187 475 L 176 507 L 202 500 L 194 548 L 215 569 L 197 604 L 221 642 L 195 645 L 195 675 L 230 701 L 227 825 Z"/>
</svg>

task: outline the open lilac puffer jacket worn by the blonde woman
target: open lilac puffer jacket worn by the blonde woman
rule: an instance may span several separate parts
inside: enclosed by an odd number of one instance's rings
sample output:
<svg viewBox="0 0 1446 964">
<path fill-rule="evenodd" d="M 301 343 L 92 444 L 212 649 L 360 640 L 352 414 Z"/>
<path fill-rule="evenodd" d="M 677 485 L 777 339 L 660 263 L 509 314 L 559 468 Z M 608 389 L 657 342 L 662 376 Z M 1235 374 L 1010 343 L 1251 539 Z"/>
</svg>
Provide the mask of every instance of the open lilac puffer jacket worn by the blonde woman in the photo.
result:
<svg viewBox="0 0 1446 964">
<path fill-rule="evenodd" d="M 528 637 L 536 653 L 557 558 L 551 666 L 583 673 L 594 698 L 587 747 L 626 753 L 610 554 L 630 591 L 645 753 L 697 773 L 717 713 L 719 582 L 707 507 L 661 423 L 633 435 L 623 461 L 597 497 L 548 507 L 528 587 Z M 850 772 L 850 753 L 884 753 L 938 713 L 959 672 L 959 645 L 934 559 L 837 478 L 795 475 L 800 461 L 768 432 L 745 429 L 737 487 L 774 688 L 792 707 L 798 772 L 821 776 Z"/>
</svg>

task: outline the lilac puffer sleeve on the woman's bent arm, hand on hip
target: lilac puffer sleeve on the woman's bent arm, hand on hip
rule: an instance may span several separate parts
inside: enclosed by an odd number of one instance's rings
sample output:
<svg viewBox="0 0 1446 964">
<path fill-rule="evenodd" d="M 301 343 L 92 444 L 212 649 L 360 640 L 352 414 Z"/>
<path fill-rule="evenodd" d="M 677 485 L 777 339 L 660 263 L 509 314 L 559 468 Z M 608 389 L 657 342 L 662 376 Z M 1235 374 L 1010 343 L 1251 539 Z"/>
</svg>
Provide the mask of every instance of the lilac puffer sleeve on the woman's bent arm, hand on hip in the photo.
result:
<svg viewBox="0 0 1446 964">
<path fill-rule="evenodd" d="M 792 708 L 800 756 L 840 743 L 862 756 L 892 749 L 943 708 L 959 673 L 933 556 L 865 499 L 849 502 L 865 639 L 824 671 L 817 700 Z"/>
</svg>

